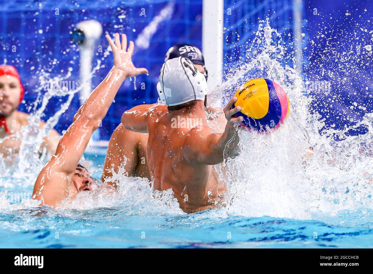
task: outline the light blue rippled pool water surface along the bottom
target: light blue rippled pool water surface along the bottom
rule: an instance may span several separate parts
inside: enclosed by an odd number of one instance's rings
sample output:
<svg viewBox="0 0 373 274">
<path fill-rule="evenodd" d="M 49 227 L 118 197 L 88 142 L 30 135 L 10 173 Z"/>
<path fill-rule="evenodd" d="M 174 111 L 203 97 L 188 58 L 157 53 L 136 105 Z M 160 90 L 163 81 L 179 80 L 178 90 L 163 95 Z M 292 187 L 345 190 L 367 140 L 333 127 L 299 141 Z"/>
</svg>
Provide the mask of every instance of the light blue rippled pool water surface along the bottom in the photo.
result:
<svg viewBox="0 0 373 274">
<path fill-rule="evenodd" d="M 104 154 L 85 157 L 98 167 Z M 7 191 L 32 192 L 32 186 Z M 0 248 L 370 248 L 373 243 L 372 212 L 295 220 L 250 218 L 225 209 L 183 214 L 142 207 L 12 209 L 0 200 Z"/>
</svg>

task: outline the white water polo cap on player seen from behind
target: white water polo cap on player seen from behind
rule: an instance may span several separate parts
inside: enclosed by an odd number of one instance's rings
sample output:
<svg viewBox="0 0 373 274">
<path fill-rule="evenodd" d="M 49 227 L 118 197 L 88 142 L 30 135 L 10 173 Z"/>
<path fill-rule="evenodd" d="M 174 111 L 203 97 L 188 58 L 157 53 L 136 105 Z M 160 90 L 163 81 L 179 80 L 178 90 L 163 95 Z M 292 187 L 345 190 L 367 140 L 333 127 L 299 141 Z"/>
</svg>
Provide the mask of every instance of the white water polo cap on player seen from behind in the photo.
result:
<svg viewBox="0 0 373 274">
<path fill-rule="evenodd" d="M 193 100 L 205 100 L 207 82 L 188 58 L 167 60 L 160 71 L 157 91 L 165 105 L 180 105 Z"/>
</svg>

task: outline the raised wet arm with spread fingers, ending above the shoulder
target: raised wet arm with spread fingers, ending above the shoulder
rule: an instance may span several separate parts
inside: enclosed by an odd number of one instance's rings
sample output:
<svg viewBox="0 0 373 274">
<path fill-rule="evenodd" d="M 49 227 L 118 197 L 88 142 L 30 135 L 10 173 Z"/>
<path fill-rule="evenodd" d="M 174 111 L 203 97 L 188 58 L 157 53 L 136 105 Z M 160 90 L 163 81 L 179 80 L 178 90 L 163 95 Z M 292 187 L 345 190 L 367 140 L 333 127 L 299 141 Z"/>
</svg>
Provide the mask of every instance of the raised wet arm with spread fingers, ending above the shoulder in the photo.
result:
<svg viewBox="0 0 373 274">
<path fill-rule="evenodd" d="M 128 50 L 126 50 L 127 37 L 125 34 L 122 34 L 122 43 L 120 43 L 118 33 L 115 34 L 115 43 L 109 35 L 106 35 L 106 38 L 113 50 L 114 66 L 79 108 L 72 125 L 63 135 L 57 147 L 55 157 L 64 163 L 60 165 L 60 171 L 66 173 L 75 170 L 92 133 L 105 117 L 123 81 L 140 73 L 148 73 L 147 69 L 138 69 L 132 63 L 134 42 L 131 41 Z"/>
</svg>

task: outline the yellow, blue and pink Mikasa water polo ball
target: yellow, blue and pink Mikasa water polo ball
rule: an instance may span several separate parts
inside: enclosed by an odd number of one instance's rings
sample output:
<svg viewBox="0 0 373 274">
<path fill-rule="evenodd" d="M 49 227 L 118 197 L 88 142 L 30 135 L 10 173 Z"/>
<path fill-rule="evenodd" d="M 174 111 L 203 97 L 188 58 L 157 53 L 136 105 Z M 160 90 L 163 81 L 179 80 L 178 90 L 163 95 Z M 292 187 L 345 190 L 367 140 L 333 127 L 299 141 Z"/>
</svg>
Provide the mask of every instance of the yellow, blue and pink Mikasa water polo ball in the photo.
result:
<svg viewBox="0 0 373 274">
<path fill-rule="evenodd" d="M 281 86 L 271 80 L 258 78 L 246 82 L 235 94 L 233 107 L 241 106 L 236 117 L 242 116 L 242 125 L 258 132 L 274 130 L 289 113 L 289 99 Z"/>
</svg>

